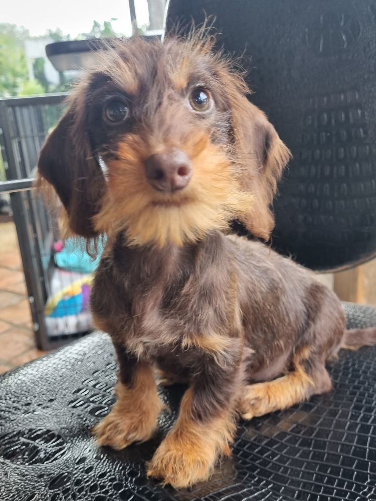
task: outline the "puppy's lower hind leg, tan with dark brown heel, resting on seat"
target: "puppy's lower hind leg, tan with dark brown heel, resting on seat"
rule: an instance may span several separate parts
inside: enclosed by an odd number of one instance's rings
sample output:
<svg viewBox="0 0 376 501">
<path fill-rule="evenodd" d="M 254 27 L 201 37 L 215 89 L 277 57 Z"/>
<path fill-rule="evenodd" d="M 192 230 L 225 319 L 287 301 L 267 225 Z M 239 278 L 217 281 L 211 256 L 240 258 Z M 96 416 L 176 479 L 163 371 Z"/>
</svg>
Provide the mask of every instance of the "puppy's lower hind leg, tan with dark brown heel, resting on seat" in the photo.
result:
<svg viewBox="0 0 376 501">
<path fill-rule="evenodd" d="M 331 381 L 324 363 L 311 357 L 306 347 L 295 355 L 291 372 L 273 381 L 247 385 L 238 411 L 243 419 L 251 419 L 285 409 L 330 389 Z"/>
</svg>

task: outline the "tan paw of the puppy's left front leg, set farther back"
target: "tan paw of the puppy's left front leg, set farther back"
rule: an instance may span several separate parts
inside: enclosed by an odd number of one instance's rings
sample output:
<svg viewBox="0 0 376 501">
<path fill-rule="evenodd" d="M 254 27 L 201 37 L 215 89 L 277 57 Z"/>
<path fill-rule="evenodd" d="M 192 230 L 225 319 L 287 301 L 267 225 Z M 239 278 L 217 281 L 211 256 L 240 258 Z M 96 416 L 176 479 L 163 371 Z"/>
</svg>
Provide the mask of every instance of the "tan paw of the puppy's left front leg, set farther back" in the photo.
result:
<svg viewBox="0 0 376 501">
<path fill-rule="evenodd" d="M 143 416 L 129 415 L 114 409 L 94 426 L 92 433 L 96 436 L 98 445 L 109 445 L 120 450 L 132 442 L 148 440 L 155 427 L 156 420 L 147 422 Z"/>
</svg>

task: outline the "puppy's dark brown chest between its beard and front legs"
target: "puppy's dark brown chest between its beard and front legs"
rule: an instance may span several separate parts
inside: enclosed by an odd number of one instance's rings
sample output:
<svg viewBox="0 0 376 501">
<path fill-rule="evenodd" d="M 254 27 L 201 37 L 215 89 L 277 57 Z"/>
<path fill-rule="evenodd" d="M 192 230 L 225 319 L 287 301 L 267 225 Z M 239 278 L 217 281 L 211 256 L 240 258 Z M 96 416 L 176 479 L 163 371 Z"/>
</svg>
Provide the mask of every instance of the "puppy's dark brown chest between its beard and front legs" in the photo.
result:
<svg viewBox="0 0 376 501">
<path fill-rule="evenodd" d="M 210 351 L 219 338 L 234 334 L 236 283 L 226 266 L 219 270 L 212 259 L 202 266 L 193 252 L 183 261 L 164 256 L 157 262 L 132 253 L 121 249 L 102 261 L 94 281 L 94 317 L 104 320 L 99 326 L 114 340 L 138 356 L 159 357 L 165 349 L 176 354 L 196 349 L 203 340 Z"/>
</svg>

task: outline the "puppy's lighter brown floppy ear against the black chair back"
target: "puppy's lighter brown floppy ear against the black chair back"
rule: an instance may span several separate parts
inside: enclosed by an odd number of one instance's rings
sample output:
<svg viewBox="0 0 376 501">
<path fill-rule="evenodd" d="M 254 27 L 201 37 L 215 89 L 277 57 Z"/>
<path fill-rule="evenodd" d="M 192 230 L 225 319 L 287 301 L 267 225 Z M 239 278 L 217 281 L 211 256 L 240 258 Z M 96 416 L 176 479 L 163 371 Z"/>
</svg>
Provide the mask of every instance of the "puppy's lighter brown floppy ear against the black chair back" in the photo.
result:
<svg viewBox="0 0 376 501">
<path fill-rule="evenodd" d="M 252 212 L 242 215 L 241 221 L 252 234 L 268 240 L 274 228 L 270 206 L 291 154 L 266 115 L 243 93 L 230 94 L 230 100 L 240 183 L 255 199 Z"/>
</svg>

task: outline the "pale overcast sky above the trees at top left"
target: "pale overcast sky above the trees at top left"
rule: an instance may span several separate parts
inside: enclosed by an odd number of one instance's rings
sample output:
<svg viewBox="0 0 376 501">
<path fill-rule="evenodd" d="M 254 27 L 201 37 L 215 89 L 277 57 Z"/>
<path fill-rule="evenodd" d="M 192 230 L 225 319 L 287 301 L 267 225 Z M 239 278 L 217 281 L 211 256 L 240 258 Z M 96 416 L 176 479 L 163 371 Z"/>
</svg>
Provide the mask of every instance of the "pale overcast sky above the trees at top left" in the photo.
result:
<svg viewBox="0 0 376 501">
<path fill-rule="evenodd" d="M 146 0 L 135 0 L 137 24 L 148 23 Z M 90 32 L 93 21 L 103 23 L 117 18 L 112 26 L 116 32 L 131 34 L 127 0 L 5 0 L 0 9 L 0 22 L 24 26 L 32 36 L 60 28 L 75 38 Z"/>
</svg>

